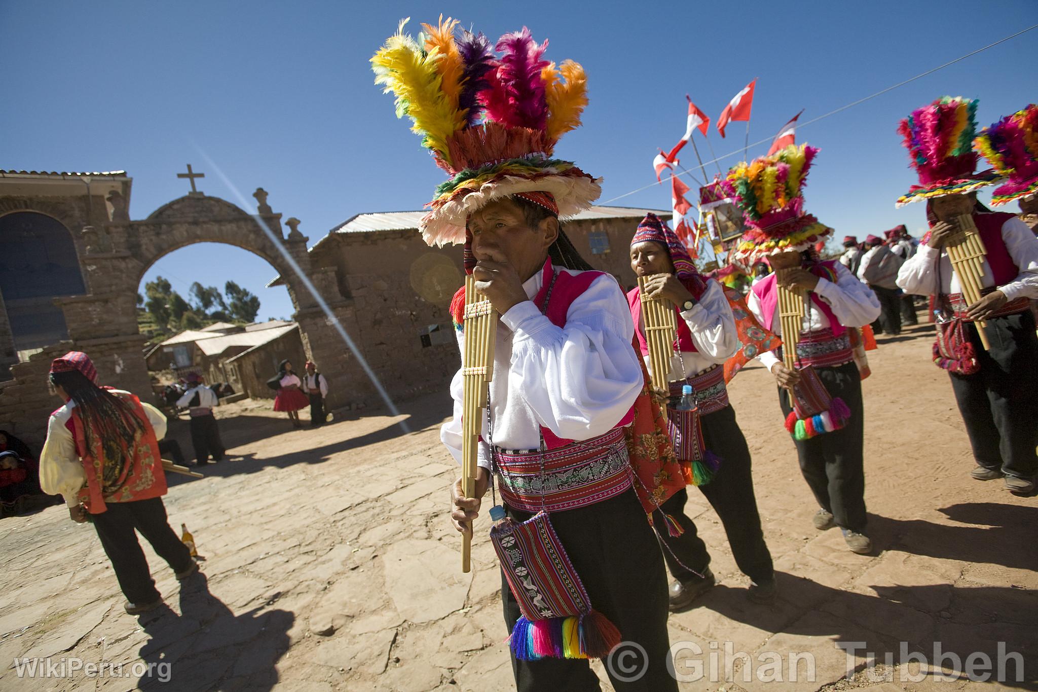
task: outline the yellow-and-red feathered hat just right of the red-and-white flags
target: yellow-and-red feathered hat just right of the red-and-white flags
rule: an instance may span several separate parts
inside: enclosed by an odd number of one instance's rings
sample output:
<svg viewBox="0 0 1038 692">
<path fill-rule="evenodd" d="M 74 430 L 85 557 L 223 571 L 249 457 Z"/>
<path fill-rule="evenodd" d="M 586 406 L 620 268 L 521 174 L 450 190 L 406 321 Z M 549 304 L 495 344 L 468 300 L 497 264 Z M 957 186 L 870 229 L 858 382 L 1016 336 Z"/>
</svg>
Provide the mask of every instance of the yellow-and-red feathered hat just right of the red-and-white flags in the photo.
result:
<svg viewBox="0 0 1038 692">
<path fill-rule="evenodd" d="M 767 255 L 807 250 L 832 232 L 803 211 L 803 186 L 816 154 L 814 146 L 790 144 L 728 171 L 721 187 L 746 222 L 735 259 L 752 266 Z"/>
</svg>

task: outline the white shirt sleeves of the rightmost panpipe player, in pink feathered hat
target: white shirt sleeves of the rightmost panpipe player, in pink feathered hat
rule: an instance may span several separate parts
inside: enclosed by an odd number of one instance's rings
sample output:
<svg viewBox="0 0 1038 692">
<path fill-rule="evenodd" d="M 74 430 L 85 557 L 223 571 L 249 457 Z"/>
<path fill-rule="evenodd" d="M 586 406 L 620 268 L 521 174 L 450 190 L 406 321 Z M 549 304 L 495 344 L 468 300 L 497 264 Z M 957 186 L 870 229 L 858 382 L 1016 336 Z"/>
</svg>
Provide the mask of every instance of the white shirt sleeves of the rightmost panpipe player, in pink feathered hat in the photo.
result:
<svg viewBox="0 0 1038 692">
<path fill-rule="evenodd" d="M 1017 298 L 1038 298 L 1038 239 L 1031 232 L 1026 223 L 1013 217 L 1002 224 L 1002 240 L 1013 264 L 1020 273 L 1015 279 L 1002 286 L 1000 290 L 1009 300 Z M 985 257 L 982 264 L 982 287 L 994 285 L 991 266 Z M 938 269 L 939 268 L 939 269 Z M 937 285 L 937 275 L 940 275 L 940 285 Z M 935 250 L 929 245 L 920 245 L 919 251 L 901 266 L 898 272 L 898 285 L 908 294 L 928 296 L 931 294 L 961 293 L 959 279 L 952 272 L 952 262 L 948 252 L 941 248 Z M 939 290 L 938 290 L 939 288 Z"/>
</svg>

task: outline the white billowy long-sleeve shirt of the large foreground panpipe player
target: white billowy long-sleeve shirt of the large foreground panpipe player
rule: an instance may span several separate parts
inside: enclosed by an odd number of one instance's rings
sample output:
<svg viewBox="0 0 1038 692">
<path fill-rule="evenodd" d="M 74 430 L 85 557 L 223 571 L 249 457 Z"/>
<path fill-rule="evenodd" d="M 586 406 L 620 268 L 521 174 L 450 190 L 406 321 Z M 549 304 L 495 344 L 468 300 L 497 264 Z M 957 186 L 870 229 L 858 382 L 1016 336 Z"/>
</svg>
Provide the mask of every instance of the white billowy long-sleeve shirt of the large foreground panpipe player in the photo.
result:
<svg viewBox="0 0 1038 692">
<path fill-rule="evenodd" d="M 543 270 L 523 283 L 527 297 L 541 289 L 542 274 Z M 553 325 L 532 300 L 512 307 L 497 324 L 490 382 L 493 444 L 537 449 L 542 425 L 567 440 L 586 440 L 616 427 L 644 384 L 633 337 L 627 300 L 608 275 L 595 279 L 573 301 L 565 327 Z M 462 362 L 464 348 L 464 335 L 458 332 Z M 440 428 L 440 439 L 459 462 L 462 392 L 459 369 L 450 383 L 454 417 Z M 489 469 L 490 437 L 486 420 L 482 424 L 477 463 Z"/>
</svg>

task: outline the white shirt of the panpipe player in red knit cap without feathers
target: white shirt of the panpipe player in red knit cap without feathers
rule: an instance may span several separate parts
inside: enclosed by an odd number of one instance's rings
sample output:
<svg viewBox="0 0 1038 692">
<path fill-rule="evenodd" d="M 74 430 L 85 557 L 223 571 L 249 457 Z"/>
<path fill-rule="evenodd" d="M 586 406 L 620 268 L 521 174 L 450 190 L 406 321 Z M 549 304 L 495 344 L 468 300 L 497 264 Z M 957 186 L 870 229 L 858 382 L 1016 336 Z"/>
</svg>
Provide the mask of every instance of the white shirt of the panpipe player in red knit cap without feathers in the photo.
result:
<svg viewBox="0 0 1038 692">
<path fill-rule="evenodd" d="M 679 312 L 692 335 L 696 351 L 682 351 L 681 358 L 671 359 L 668 381 L 683 380 L 701 372 L 711 365 L 723 363 L 739 350 L 739 333 L 735 328 L 732 306 L 725 298 L 725 289 L 713 279 L 707 280 L 707 289 L 690 310 Z M 641 333 L 645 327 L 639 326 Z M 649 356 L 645 357 L 650 372 Z M 684 364 L 684 372 L 682 372 Z"/>
</svg>

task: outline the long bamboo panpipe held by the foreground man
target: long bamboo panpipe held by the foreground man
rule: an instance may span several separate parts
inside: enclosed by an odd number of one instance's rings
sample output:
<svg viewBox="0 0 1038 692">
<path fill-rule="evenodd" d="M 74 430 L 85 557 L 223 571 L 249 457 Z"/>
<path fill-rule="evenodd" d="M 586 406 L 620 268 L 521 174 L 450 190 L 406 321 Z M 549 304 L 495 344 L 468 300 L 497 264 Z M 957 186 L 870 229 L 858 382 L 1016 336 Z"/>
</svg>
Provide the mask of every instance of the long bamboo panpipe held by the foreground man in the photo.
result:
<svg viewBox="0 0 1038 692">
<path fill-rule="evenodd" d="M 475 496 L 476 452 L 487 408 L 487 383 L 494 371 L 494 343 L 497 337 L 497 313 L 482 294 L 475 279 L 465 277 L 464 314 L 465 362 L 462 364 L 462 448 L 461 489 L 465 497 Z M 471 570 L 472 536 L 462 534 L 461 571 Z"/>
</svg>

